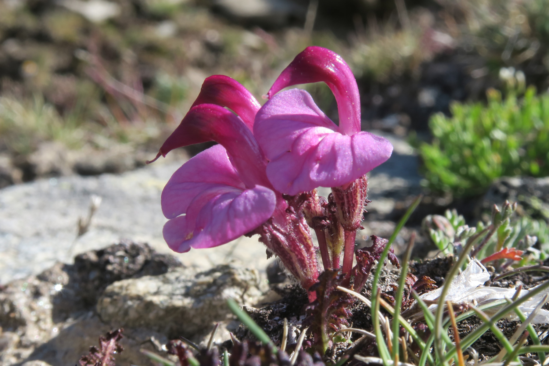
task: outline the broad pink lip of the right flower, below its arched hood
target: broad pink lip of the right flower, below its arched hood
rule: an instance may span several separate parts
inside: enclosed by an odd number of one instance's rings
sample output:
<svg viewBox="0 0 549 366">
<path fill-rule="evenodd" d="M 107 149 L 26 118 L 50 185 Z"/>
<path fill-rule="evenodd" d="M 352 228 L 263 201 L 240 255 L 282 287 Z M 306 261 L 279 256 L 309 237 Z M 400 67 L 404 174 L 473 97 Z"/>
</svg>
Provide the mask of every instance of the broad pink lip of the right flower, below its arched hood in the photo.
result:
<svg viewBox="0 0 549 366">
<path fill-rule="evenodd" d="M 393 152 L 387 139 L 372 133 L 341 134 L 300 89 L 265 103 L 257 112 L 254 135 L 270 160 L 267 177 L 275 189 L 290 195 L 352 182 Z"/>
</svg>

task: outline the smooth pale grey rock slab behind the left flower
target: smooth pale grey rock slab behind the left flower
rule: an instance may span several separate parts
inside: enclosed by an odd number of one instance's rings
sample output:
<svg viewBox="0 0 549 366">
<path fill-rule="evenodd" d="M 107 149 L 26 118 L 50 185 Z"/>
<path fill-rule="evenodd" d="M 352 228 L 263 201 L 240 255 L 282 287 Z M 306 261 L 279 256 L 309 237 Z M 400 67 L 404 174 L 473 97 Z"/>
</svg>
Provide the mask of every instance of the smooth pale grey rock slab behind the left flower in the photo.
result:
<svg viewBox="0 0 549 366">
<path fill-rule="evenodd" d="M 122 174 L 52 177 L 0 189 L 0 284 L 38 274 L 56 261 L 71 263 L 77 253 L 122 238 L 175 254 L 162 237 L 167 220 L 160 195 L 182 162 L 168 157 Z M 87 232 L 77 236 L 77 222 L 87 216 L 93 195 L 100 196 L 102 203 Z M 186 266 L 202 271 L 233 261 L 264 271 L 268 263 L 257 237 L 176 255 Z"/>
</svg>

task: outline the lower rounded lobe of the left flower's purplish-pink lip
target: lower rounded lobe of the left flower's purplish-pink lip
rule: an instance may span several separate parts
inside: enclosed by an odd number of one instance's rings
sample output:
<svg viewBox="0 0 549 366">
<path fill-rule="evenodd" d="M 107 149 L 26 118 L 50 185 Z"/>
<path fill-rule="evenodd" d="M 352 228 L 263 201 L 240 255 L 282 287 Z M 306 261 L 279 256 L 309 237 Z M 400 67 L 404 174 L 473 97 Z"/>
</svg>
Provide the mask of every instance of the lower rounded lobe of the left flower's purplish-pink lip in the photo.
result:
<svg viewBox="0 0 549 366">
<path fill-rule="evenodd" d="M 276 195 L 271 189 L 256 185 L 217 195 L 205 204 L 201 202 L 201 206 L 194 220 L 187 213 L 165 224 L 164 239 L 172 250 L 186 252 L 191 247 L 219 246 L 251 232 L 272 216 Z"/>
</svg>

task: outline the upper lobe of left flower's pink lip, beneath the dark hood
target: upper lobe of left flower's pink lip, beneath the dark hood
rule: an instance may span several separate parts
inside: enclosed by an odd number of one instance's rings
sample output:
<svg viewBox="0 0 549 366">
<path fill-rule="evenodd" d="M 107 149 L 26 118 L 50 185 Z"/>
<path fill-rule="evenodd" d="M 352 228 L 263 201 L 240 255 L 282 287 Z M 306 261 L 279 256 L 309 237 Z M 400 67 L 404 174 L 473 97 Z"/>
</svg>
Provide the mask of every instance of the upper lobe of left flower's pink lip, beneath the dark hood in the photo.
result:
<svg viewBox="0 0 549 366">
<path fill-rule="evenodd" d="M 229 187 L 245 189 L 225 148 L 221 145 L 212 146 L 189 159 L 173 173 L 162 192 L 162 212 L 166 218 L 177 217 L 187 212 L 197 196 Z M 216 192 L 217 195 L 222 193 L 219 190 Z"/>
</svg>

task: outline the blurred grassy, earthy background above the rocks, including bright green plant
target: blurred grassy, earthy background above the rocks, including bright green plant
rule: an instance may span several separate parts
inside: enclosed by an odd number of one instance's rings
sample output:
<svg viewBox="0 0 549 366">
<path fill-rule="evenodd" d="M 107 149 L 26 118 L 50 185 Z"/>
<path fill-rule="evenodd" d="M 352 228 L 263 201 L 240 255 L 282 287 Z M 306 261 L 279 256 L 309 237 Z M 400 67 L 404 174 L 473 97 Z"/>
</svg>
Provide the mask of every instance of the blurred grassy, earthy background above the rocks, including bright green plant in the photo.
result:
<svg viewBox="0 0 549 366">
<path fill-rule="evenodd" d="M 141 166 L 205 77 L 263 103 L 312 44 L 350 64 L 363 128 L 418 148 L 432 194 L 548 175 L 546 0 L 0 0 L 0 187 Z"/>
</svg>

